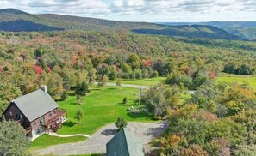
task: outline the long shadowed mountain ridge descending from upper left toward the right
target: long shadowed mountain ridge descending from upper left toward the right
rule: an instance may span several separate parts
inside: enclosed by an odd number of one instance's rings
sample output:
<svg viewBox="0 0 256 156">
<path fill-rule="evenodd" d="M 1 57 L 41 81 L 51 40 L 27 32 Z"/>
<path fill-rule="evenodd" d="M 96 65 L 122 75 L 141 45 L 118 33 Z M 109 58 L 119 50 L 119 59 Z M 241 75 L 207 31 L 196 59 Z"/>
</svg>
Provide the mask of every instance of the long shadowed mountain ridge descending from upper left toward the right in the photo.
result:
<svg viewBox="0 0 256 156">
<path fill-rule="evenodd" d="M 240 39 L 220 28 L 211 26 L 165 26 L 157 23 L 108 21 L 72 15 L 33 15 L 18 9 L 0 9 L 0 31 L 41 32 L 64 30 L 131 32 L 207 39 Z"/>
</svg>

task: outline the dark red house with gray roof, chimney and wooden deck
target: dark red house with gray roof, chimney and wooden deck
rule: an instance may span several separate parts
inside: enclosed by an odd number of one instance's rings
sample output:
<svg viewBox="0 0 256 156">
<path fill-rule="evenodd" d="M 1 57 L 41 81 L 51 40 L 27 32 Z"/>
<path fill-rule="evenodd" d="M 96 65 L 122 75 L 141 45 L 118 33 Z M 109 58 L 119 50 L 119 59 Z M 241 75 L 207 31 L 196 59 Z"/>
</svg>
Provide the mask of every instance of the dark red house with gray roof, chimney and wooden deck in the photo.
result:
<svg viewBox="0 0 256 156">
<path fill-rule="evenodd" d="M 26 130 L 26 135 L 33 140 L 46 131 L 57 131 L 65 121 L 66 110 L 47 93 L 47 87 L 13 99 L 3 112 L 5 120 L 20 123 Z"/>
</svg>

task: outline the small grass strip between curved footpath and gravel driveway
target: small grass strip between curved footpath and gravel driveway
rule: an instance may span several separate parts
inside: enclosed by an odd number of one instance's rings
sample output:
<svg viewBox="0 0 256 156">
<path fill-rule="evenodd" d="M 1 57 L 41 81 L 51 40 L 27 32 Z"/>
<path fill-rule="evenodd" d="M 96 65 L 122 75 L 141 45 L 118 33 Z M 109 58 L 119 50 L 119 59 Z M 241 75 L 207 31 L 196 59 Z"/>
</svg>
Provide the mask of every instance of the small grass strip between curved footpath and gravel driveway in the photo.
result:
<svg viewBox="0 0 256 156">
<path fill-rule="evenodd" d="M 41 135 L 36 140 L 32 141 L 31 143 L 31 149 L 41 149 L 45 147 L 49 147 L 51 145 L 57 145 L 62 144 L 66 142 L 78 142 L 78 141 L 84 141 L 87 138 L 81 137 L 81 136 L 73 136 L 73 137 L 66 137 L 66 138 L 60 138 L 57 136 L 51 136 L 51 135 Z"/>
</svg>

